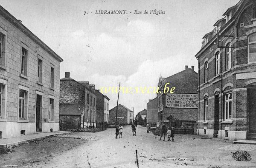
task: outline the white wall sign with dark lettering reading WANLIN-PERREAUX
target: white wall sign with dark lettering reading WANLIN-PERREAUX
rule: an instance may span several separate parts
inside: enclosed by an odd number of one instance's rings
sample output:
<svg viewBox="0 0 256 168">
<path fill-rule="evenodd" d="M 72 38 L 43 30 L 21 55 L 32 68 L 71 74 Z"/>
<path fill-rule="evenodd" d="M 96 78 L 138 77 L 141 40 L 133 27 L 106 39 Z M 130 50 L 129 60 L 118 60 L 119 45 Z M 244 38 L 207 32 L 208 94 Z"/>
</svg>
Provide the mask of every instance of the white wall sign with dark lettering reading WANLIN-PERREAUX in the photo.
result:
<svg viewBox="0 0 256 168">
<path fill-rule="evenodd" d="M 166 108 L 198 108 L 197 94 L 193 93 L 167 93 L 166 94 Z"/>
</svg>

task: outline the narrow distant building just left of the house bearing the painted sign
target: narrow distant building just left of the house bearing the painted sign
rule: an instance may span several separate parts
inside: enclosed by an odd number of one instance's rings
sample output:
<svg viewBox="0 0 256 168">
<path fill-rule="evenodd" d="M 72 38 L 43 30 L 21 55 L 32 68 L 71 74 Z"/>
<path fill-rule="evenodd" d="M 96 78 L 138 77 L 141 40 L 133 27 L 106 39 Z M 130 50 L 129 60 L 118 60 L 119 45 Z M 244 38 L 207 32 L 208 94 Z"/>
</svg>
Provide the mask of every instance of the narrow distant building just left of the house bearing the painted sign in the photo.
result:
<svg viewBox="0 0 256 168">
<path fill-rule="evenodd" d="M 157 123 L 157 97 L 148 100 L 147 123 Z"/>
</svg>

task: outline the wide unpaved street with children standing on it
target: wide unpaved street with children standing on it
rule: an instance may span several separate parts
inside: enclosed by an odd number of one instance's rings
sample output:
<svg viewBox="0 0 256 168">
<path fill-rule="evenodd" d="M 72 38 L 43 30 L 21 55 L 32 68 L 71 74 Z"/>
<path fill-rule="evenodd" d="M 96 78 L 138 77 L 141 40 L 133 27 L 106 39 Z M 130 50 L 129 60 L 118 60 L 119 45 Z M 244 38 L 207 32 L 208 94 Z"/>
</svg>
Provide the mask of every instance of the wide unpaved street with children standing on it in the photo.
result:
<svg viewBox="0 0 256 168">
<path fill-rule="evenodd" d="M 52 156 L 38 158 L 33 162 L 20 167 L 47 167 L 47 168 L 130 168 L 136 167 L 135 150 L 138 150 L 139 167 L 255 167 L 256 146 L 236 145 L 229 141 L 205 139 L 197 135 L 175 135 L 175 142 L 159 141 L 158 136 L 147 134 L 146 129 L 138 126 L 137 136 L 132 136 L 131 126 L 125 126 L 123 138 L 115 139 L 115 129 L 109 128 L 96 133 L 72 133 L 70 136 L 83 137 L 90 135 L 93 140 L 63 138 L 72 144 L 70 148 L 58 152 L 56 148 Z M 59 138 L 59 137 L 52 137 Z M 203 139 L 202 139 L 203 138 Z M 39 141 L 40 142 L 40 141 Z M 44 143 L 44 140 L 41 141 Z M 59 143 L 59 142 L 56 142 Z M 23 144 L 31 145 L 31 144 Z M 46 143 L 44 145 L 47 146 Z M 51 144 L 53 145 L 53 144 Z M 55 144 L 58 146 L 58 144 Z M 70 144 L 71 145 L 71 144 Z M 19 146 L 19 147 L 21 147 Z M 17 148 L 19 148 L 17 147 Z M 222 149 L 219 149 L 222 148 Z M 234 161 L 232 153 L 238 148 L 250 150 L 252 161 Z M 26 151 L 26 148 L 23 148 Z M 15 151 L 16 152 L 16 151 Z M 8 158 L 11 154 L 5 154 Z M 2 157 L 0 155 L 0 157 Z M 186 158 L 183 161 L 174 161 L 170 158 Z M 4 162 L 7 165 L 8 162 Z M 10 164 L 9 164 L 10 165 Z M 6 166 L 5 166 L 6 167 Z"/>
</svg>

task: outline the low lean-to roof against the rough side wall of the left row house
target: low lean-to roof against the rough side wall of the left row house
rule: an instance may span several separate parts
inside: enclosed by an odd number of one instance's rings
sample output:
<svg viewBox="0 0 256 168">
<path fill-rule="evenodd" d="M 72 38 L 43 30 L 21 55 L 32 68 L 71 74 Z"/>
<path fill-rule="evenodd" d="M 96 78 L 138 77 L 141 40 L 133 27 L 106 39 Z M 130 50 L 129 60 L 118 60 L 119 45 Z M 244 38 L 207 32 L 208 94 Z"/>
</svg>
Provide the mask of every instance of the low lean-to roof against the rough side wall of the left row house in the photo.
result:
<svg viewBox="0 0 256 168">
<path fill-rule="evenodd" d="M 60 104 L 60 115 L 81 115 L 83 108 L 84 104 Z"/>
</svg>

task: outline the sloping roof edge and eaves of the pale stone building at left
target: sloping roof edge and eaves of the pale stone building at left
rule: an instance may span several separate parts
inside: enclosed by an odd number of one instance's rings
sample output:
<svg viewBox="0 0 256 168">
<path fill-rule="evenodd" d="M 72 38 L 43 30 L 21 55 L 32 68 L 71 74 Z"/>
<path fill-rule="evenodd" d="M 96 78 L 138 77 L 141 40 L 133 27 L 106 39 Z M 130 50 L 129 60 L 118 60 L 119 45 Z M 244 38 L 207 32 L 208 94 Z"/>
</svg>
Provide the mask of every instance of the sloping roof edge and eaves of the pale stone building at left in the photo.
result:
<svg viewBox="0 0 256 168">
<path fill-rule="evenodd" d="M 10 14 L 8 11 L 6 11 L 5 8 L 0 6 L 0 15 L 3 16 L 6 20 L 12 23 L 16 28 L 20 29 L 24 34 L 29 36 L 30 39 L 32 39 L 34 42 L 36 42 L 41 48 L 47 51 L 53 58 L 58 60 L 59 62 L 62 62 L 63 59 L 58 56 L 51 48 L 48 47 L 41 39 L 39 39 L 35 34 L 33 34 L 26 26 L 24 26 L 19 20 L 17 20 L 12 14 Z"/>
</svg>

